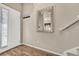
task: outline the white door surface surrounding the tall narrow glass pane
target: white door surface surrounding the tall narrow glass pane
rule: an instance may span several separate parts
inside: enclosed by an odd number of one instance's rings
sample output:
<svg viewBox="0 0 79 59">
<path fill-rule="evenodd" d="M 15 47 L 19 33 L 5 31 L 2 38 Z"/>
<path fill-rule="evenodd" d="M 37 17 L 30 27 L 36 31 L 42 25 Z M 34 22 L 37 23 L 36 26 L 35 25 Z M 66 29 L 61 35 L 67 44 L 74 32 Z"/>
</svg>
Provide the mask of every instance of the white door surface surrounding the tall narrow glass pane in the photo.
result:
<svg viewBox="0 0 79 59">
<path fill-rule="evenodd" d="M 1 48 L 0 53 L 20 45 L 20 12 L 0 4 L 0 7 L 9 10 L 9 20 L 8 20 L 8 47 Z"/>
</svg>

